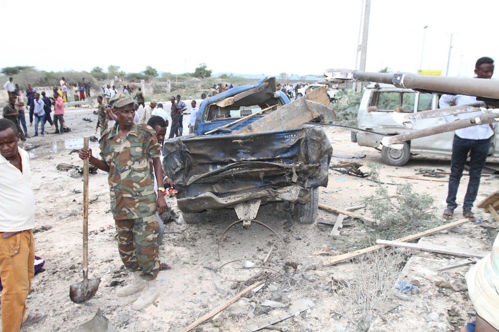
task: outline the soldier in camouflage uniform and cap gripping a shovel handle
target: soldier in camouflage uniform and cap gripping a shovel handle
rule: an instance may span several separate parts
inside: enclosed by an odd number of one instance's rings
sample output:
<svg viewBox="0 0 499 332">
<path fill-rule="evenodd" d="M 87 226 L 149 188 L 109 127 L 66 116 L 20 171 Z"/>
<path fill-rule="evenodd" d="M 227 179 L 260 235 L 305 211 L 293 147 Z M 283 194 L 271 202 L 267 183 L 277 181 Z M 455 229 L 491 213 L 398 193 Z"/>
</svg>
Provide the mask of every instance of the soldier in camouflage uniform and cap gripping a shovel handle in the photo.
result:
<svg viewBox="0 0 499 332">
<path fill-rule="evenodd" d="M 135 282 L 116 291 L 128 296 L 140 291 L 133 309 L 141 310 L 156 300 L 159 290 L 156 276 L 160 269 L 158 257 L 159 224 L 156 211 L 165 211 L 162 186 L 158 195 L 149 161 L 152 159 L 158 183 L 163 183 L 163 169 L 159 157 L 161 147 L 154 130 L 146 124 L 133 122 L 134 102 L 128 94 L 117 94 L 110 100 L 118 121 L 106 129 L 99 140 L 100 157 L 92 157 L 91 149 L 80 150 L 81 159 L 109 172 L 111 212 L 118 232 L 118 250 L 125 267 L 134 273 Z"/>
</svg>

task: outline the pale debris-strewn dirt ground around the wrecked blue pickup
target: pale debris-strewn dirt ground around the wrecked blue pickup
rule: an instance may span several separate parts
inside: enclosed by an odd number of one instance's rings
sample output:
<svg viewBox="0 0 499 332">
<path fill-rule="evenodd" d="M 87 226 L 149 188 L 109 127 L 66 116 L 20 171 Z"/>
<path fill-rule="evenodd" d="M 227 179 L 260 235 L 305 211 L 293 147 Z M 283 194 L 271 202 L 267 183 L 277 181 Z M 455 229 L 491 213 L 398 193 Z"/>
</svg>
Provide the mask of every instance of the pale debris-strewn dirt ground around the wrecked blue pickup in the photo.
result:
<svg viewBox="0 0 499 332">
<path fill-rule="evenodd" d="M 165 109 L 168 109 L 165 104 Z M 154 305 L 140 312 L 131 308 L 131 303 L 138 296 L 118 298 L 117 287 L 128 283 L 131 275 L 126 273 L 118 256 L 115 240 L 115 227 L 109 206 L 109 187 L 107 174 L 98 171 L 90 174 L 89 212 L 89 275 L 100 277 L 101 283 L 95 297 L 87 304 L 74 304 L 69 299 L 69 285 L 79 282 L 81 276 L 81 222 L 82 222 L 82 176 L 74 171 L 57 170 L 59 163 L 81 166 L 77 153 L 72 149 L 82 146 L 83 136 L 95 135 L 97 116 L 91 108 L 68 108 L 65 121 L 72 129 L 64 135 L 46 134 L 28 140 L 28 144 L 41 145 L 30 151 L 32 169 L 32 187 L 36 198 L 36 255 L 45 259 L 45 271 L 33 278 L 31 292 L 27 300 L 28 311 L 43 311 L 43 321 L 23 329 L 23 331 L 71 331 L 78 325 L 90 320 L 100 308 L 118 331 L 180 331 L 197 318 L 208 313 L 244 289 L 246 285 L 237 281 L 248 280 L 261 269 L 242 270 L 242 261 L 249 260 L 262 265 L 269 249 L 275 249 L 264 270 L 276 275 L 269 278 L 267 285 L 256 294 L 247 295 L 224 310 L 215 320 L 208 320 L 197 331 L 249 331 L 244 327 L 254 319 L 283 314 L 289 304 L 302 298 L 309 298 L 314 306 L 296 314 L 285 321 L 276 323 L 289 331 L 344 331 L 346 318 L 339 315 L 340 308 L 332 294 L 333 280 L 348 279 L 355 273 L 350 263 L 341 263 L 322 267 L 322 260 L 336 254 L 360 249 L 358 243 L 365 237 L 366 230 L 360 222 L 343 227 L 339 238 L 329 237 L 331 226 L 322 224 L 289 225 L 285 215 L 273 205 L 260 208 L 257 219 L 270 226 L 282 238 L 283 243 L 272 232 L 252 224 L 249 230 L 241 226 L 231 228 L 220 246 L 220 258 L 217 255 L 217 243 L 221 233 L 235 221 L 234 212 L 228 211 L 211 215 L 211 220 L 197 225 L 170 222 L 166 224 L 166 233 L 160 246 L 160 259 L 172 265 L 171 270 L 161 271 L 158 285 L 161 295 Z M 92 122 L 83 121 L 90 118 Z M 188 121 L 188 116 L 184 122 Z M 187 128 L 187 125 L 185 126 Z M 33 127 L 28 127 L 33 134 Z M 364 159 L 354 160 L 363 164 L 382 164 L 378 151 L 363 148 L 350 142 L 350 132 L 337 128 L 326 128 L 334 153 L 353 155 L 365 153 Z M 53 130 L 52 130 L 53 131 Z M 98 154 L 98 144 L 91 143 L 94 156 Z M 332 163 L 348 161 L 333 158 Z M 494 161 L 493 161 L 494 162 Z M 490 166 L 499 168 L 497 161 Z M 447 183 L 437 181 L 390 178 L 390 175 L 415 175 L 418 168 L 443 168 L 449 170 L 449 158 L 416 156 L 403 167 L 383 166 L 381 179 L 386 182 L 413 183 L 416 192 L 427 192 L 436 199 L 438 214 L 445 207 Z M 421 176 L 421 175 L 418 175 Z M 462 202 L 466 190 L 467 178 L 461 182 L 458 201 Z M 483 177 L 477 202 L 497 190 L 498 177 Z M 391 193 L 396 186 L 387 185 Z M 321 188 L 322 203 L 346 209 L 359 205 L 362 197 L 374 192 L 373 182 L 363 178 L 330 171 L 327 188 Z M 76 192 L 75 192 L 76 191 Z M 175 199 L 170 198 L 176 206 Z M 497 233 L 490 214 L 475 209 L 477 217 L 485 219 L 481 224 L 467 223 L 464 232 L 457 234 L 449 231 L 428 236 L 423 243 L 447 244 L 464 248 L 489 251 L 491 241 L 487 228 L 492 227 Z M 369 215 L 368 209 L 356 213 Z M 456 216 L 461 214 L 458 208 Z M 329 221 L 336 219 L 335 214 L 319 210 L 319 218 Z M 459 219 L 456 217 L 455 219 Z M 488 220 L 487 220 L 488 219 Z M 322 245 L 328 245 L 326 255 L 314 255 Z M 399 249 L 406 251 L 406 249 Z M 434 253 L 414 252 L 401 273 L 402 280 L 416 281 L 419 292 L 407 295 L 406 300 L 391 297 L 391 303 L 399 304 L 390 313 L 375 317 L 370 331 L 454 331 L 466 322 L 473 320 L 472 305 L 466 291 L 464 276 L 469 267 L 462 267 L 438 273 L 435 270 L 461 257 Z M 212 272 L 223 263 L 232 260 L 215 273 L 219 290 L 216 288 Z M 283 263 L 289 263 L 282 269 Z M 275 271 L 274 271 L 275 270 Z M 291 277 L 292 276 L 292 277 Z M 218 277 L 218 278 L 217 278 Z M 452 287 L 436 286 L 439 281 L 447 281 Z M 224 292 L 225 290 L 225 292 Z M 273 290 L 273 291 L 272 291 Z M 282 295 L 279 290 L 282 291 Z M 273 309 L 263 306 L 264 300 L 274 300 L 284 304 L 285 308 Z M 254 308 L 254 310 L 252 310 Z M 254 320 L 253 319 L 253 320 Z M 350 330 L 351 331 L 351 330 Z"/>
</svg>

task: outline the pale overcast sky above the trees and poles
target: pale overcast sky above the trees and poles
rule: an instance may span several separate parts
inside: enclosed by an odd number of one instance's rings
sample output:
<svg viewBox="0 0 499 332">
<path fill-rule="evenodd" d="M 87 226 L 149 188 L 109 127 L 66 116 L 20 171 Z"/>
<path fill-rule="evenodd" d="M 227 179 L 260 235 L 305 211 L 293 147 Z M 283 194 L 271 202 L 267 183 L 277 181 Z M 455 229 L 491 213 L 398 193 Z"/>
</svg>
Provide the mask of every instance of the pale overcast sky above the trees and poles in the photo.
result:
<svg viewBox="0 0 499 332">
<path fill-rule="evenodd" d="M 362 0 L 0 3 L 0 67 L 182 73 L 204 62 L 266 75 L 354 68 L 362 9 Z M 498 12 L 497 0 L 372 0 L 366 70 L 419 69 L 428 25 L 422 68 L 445 74 L 454 33 L 450 75 L 472 76 L 477 58 L 499 60 Z"/>
</svg>

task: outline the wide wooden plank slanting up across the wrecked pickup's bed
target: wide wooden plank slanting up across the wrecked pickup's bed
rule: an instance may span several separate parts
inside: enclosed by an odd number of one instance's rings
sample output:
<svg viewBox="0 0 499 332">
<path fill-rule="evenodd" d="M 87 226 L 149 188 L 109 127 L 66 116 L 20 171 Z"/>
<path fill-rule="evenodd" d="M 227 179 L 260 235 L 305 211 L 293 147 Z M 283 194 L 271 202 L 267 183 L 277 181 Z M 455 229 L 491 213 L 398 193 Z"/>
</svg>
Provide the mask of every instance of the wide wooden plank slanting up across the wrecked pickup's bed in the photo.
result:
<svg viewBox="0 0 499 332">
<path fill-rule="evenodd" d="M 282 106 L 277 111 L 233 132 L 233 134 L 261 133 L 296 128 L 321 114 L 330 114 L 333 111 L 320 103 L 324 100 L 322 94 L 327 97 L 327 105 L 329 105 L 329 97 L 327 96 L 326 89 L 321 87 L 313 90 L 307 95 L 307 98 L 298 98 Z"/>
</svg>

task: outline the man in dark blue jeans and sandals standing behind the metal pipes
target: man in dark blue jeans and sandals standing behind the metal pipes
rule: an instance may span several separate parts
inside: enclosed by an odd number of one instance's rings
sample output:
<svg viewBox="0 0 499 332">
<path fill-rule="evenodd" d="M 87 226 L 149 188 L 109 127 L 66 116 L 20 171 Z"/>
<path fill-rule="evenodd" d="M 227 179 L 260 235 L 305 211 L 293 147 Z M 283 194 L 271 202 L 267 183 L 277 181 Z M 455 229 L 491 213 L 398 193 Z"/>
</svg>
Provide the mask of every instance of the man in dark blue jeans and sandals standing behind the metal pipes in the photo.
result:
<svg viewBox="0 0 499 332">
<path fill-rule="evenodd" d="M 475 65 L 476 78 L 490 79 L 494 74 L 494 60 L 489 57 L 482 57 L 477 60 Z M 442 95 L 439 101 L 441 108 L 449 106 L 458 106 L 476 103 L 477 97 L 463 95 Z M 447 122 L 460 119 L 481 116 L 483 112 L 465 113 L 459 115 L 447 116 Z M 470 154 L 470 181 L 463 203 L 463 216 L 475 220 L 475 215 L 471 211 L 473 203 L 477 198 L 478 188 L 480 186 L 480 177 L 482 169 L 485 166 L 487 155 L 491 147 L 491 137 L 494 135 L 492 125 L 480 125 L 463 128 L 455 131 L 454 141 L 452 143 L 451 157 L 451 176 L 449 178 L 449 192 L 447 194 L 447 208 L 443 216 L 452 219 L 454 210 L 458 207 L 456 204 L 456 194 L 459 188 L 459 182 L 463 176 L 463 169 Z"/>
</svg>

